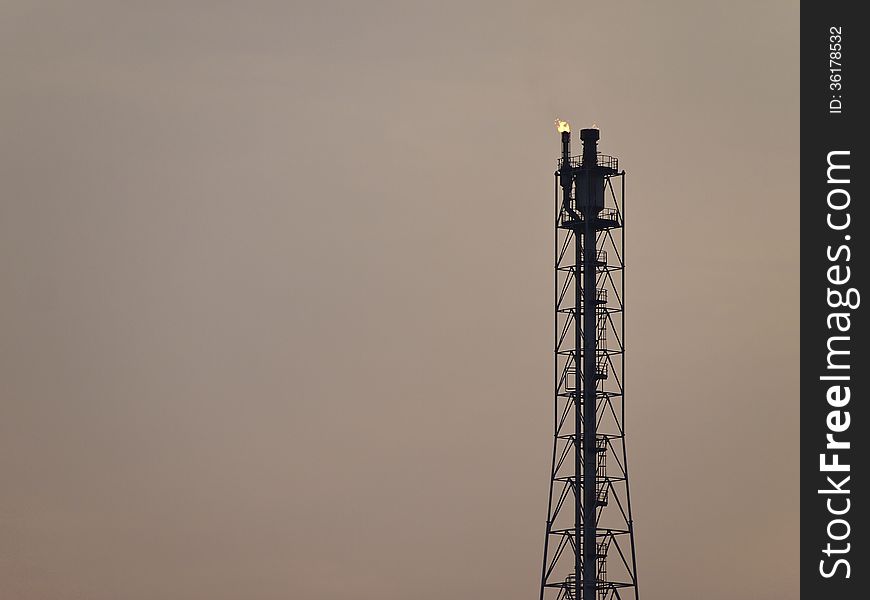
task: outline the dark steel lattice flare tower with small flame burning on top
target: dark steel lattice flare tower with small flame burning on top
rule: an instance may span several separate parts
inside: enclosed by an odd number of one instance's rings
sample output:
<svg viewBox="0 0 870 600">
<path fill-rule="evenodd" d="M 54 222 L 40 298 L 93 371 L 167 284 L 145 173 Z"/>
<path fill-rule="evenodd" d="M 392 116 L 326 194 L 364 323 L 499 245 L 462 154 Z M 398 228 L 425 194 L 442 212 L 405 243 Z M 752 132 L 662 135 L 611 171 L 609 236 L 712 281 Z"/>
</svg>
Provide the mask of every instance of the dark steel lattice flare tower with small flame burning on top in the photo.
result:
<svg viewBox="0 0 870 600">
<path fill-rule="evenodd" d="M 583 153 L 571 156 L 570 128 L 557 126 L 555 435 L 540 600 L 636 600 L 624 419 L 625 172 L 598 153 L 598 129 L 582 129 Z"/>
</svg>

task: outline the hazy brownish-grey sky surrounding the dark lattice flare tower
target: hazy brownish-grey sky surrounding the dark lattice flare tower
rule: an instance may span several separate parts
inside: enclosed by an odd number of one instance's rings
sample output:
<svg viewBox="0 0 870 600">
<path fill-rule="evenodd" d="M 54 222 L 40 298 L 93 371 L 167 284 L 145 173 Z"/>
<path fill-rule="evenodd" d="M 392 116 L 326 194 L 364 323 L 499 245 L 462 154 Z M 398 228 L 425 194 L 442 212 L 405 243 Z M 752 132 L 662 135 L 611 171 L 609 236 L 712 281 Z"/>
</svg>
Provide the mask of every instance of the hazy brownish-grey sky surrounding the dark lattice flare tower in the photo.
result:
<svg viewBox="0 0 870 600">
<path fill-rule="evenodd" d="M 798 591 L 798 3 L 0 3 L 0 597 L 537 597 L 557 116 L 648 599 Z"/>
</svg>

